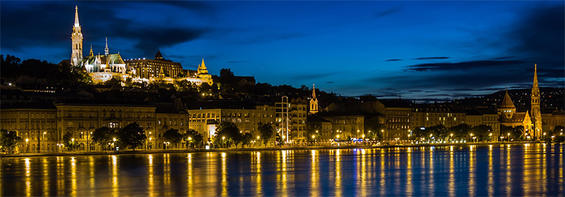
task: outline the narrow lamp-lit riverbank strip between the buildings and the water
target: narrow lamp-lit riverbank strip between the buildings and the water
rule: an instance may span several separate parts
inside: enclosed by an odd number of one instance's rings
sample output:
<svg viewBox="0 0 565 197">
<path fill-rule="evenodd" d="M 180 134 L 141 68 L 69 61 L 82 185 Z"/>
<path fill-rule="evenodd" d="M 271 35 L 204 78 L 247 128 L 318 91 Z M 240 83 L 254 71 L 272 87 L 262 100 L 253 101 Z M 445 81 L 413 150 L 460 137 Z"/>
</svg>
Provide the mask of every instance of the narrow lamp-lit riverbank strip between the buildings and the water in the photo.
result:
<svg viewBox="0 0 565 197">
<path fill-rule="evenodd" d="M 139 151 L 104 151 L 104 152 L 63 152 L 63 153 L 19 153 L 5 154 L 2 158 L 18 157 L 45 157 L 45 156 L 68 156 L 68 155 L 123 155 L 123 154 L 154 154 L 154 153 L 198 153 L 198 152 L 235 152 L 235 151 L 283 151 L 283 150 L 316 150 L 316 149 L 338 149 L 338 148 L 397 148 L 397 147 L 422 147 L 422 146 L 468 146 L 468 145 L 501 145 L 501 144 L 539 144 L 543 141 L 504 141 L 504 142 L 475 142 L 475 143 L 453 143 L 453 144 L 391 144 L 381 146 L 350 145 L 350 146 L 288 146 L 267 148 L 214 148 L 214 149 L 173 149 L 173 150 L 139 150 Z"/>
</svg>

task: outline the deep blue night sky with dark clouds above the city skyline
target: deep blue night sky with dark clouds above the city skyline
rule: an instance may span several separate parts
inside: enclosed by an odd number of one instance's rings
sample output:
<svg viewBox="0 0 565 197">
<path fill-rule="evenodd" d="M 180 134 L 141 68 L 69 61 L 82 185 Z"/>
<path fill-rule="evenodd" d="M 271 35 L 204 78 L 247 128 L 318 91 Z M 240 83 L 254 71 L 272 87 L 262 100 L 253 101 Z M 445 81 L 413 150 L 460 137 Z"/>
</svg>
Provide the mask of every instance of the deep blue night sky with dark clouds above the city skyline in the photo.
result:
<svg viewBox="0 0 565 197">
<path fill-rule="evenodd" d="M 75 5 L 90 44 L 343 96 L 459 98 L 564 87 L 564 1 L 1 1 L 0 53 L 71 56 Z M 386 97 L 389 96 L 389 97 Z"/>
</svg>

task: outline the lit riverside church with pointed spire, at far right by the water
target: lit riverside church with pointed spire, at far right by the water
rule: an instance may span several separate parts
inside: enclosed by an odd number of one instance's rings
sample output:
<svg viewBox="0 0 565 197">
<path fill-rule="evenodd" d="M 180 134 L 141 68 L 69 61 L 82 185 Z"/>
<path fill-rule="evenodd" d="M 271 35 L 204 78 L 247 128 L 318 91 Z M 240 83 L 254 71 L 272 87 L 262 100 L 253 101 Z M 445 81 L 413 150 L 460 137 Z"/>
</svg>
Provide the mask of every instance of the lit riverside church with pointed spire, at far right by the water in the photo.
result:
<svg viewBox="0 0 565 197">
<path fill-rule="evenodd" d="M 537 64 L 534 69 L 534 82 L 531 95 L 531 110 L 526 112 L 516 112 L 516 106 L 512 102 L 508 89 L 502 100 L 502 105 L 498 108 L 500 125 L 509 127 L 524 127 L 524 132 L 542 138 L 542 114 L 540 113 L 540 88 L 537 86 Z M 531 113 L 531 115 L 530 115 Z"/>
</svg>

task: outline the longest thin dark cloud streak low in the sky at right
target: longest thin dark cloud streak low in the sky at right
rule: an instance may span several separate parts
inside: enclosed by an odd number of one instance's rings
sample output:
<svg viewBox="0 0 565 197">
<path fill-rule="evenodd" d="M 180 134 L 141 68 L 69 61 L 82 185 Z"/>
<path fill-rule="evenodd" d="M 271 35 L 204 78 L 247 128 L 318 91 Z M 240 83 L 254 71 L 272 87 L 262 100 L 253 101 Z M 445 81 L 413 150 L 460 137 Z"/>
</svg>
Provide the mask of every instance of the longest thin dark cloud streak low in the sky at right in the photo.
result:
<svg viewBox="0 0 565 197">
<path fill-rule="evenodd" d="M 503 65 L 516 65 L 524 61 L 465 61 L 458 63 L 422 63 L 408 65 L 404 71 L 441 71 L 441 70 L 469 70 L 472 68 L 498 67 Z"/>
</svg>

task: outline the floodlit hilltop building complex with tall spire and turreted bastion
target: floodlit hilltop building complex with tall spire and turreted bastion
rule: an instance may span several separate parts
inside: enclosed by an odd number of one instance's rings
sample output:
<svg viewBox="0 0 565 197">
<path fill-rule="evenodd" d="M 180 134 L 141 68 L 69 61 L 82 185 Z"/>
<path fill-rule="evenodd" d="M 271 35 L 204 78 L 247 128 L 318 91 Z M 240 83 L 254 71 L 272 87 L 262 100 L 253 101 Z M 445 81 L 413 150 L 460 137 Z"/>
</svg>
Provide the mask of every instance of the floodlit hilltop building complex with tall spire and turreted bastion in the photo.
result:
<svg viewBox="0 0 565 197">
<path fill-rule="evenodd" d="M 211 75 L 208 74 L 204 60 L 198 65 L 198 70 L 184 70 L 181 63 L 165 60 L 157 50 L 155 59 L 134 58 L 125 60 L 119 53 L 109 53 L 108 38 L 104 54 L 94 54 L 92 45 L 90 53 L 83 56 L 83 33 L 78 22 L 78 6 L 75 7 L 75 23 L 73 25 L 71 65 L 85 68 L 94 83 L 106 82 L 113 77 L 121 80 L 131 78 L 133 82 L 165 82 L 173 83 L 177 80 L 187 80 L 196 85 L 202 83 L 212 84 Z"/>
</svg>

